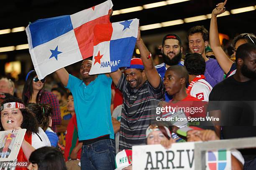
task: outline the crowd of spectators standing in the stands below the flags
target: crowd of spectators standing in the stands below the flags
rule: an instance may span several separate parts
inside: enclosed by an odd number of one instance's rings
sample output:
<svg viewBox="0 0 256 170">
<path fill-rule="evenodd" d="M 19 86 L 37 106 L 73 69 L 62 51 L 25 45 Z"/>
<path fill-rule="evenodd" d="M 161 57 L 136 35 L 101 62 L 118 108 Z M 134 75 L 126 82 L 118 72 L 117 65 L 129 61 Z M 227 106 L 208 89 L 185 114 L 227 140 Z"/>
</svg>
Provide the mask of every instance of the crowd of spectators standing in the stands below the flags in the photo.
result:
<svg viewBox="0 0 256 170">
<path fill-rule="evenodd" d="M 212 11 L 210 33 L 203 26 L 188 30 L 190 53 L 186 55 L 182 54 L 184 42 L 170 32 L 152 56 L 138 30 L 140 56 L 133 56 L 130 67 L 116 72 L 89 75 L 90 57 L 75 74 L 65 68 L 57 70 L 52 82 L 47 77 L 39 80 L 31 70 L 24 77 L 22 94 L 16 82 L 1 78 L 0 130 L 27 130 L 18 161 L 29 161 L 28 169 L 38 170 L 128 170 L 132 161 L 116 165 L 115 156 L 130 153 L 127 150 L 132 146 L 171 148 L 177 142 L 256 137 L 255 115 L 251 114 L 256 100 L 256 37 L 252 33 L 234 37 L 235 60 L 231 60 L 218 33 L 217 16 L 224 12 L 225 3 Z M 163 62 L 156 65 L 159 58 Z M 184 135 L 177 125 L 152 123 L 159 106 L 200 101 L 209 102 L 209 115 L 221 115 L 223 124 L 198 124 L 199 128 L 191 126 Z M 244 109 L 242 102 L 252 110 Z M 173 114 L 163 112 L 161 117 Z M 184 116 L 198 115 L 185 112 Z M 231 154 L 232 168 L 256 169 L 255 149 L 232 150 Z"/>
</svg>

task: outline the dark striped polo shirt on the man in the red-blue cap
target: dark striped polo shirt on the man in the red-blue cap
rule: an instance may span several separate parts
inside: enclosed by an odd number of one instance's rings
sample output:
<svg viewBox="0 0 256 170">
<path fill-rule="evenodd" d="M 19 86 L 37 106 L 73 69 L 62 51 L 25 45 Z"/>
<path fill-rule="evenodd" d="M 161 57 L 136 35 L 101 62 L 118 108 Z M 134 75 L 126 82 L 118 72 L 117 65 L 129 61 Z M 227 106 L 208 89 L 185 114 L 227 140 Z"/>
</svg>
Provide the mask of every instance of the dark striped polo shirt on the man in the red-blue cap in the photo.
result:
<svg viewBox="0 0 256 170">
<path fill-rule="evenodd" d="M 139 89 L 132 89 L 122 74 L 117 88 L 123 93 L 119 150 L 146 145 L 146 129 L 156 118 L 159 100 L 164 100 L 164 84 L 154 88 L 146 80 Z"/>
</svg>

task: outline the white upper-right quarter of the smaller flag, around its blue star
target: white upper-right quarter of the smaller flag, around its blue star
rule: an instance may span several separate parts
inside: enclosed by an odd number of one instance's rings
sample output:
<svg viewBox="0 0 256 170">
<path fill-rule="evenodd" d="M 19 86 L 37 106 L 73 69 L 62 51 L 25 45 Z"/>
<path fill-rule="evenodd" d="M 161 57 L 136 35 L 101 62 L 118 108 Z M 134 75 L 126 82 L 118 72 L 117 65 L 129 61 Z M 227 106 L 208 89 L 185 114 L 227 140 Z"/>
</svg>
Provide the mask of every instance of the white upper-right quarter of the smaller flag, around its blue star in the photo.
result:
<svg viewBox="0 0 256 170">
<path fill-rule="evenodd" d="M 111 40 L 117 40 L 126 37 L 137 37 L 139 20 L 137 18 L 133 19 L 129 28 L 125 28 L 125 30 L 123 30 L 124 26 L 120 24 L 123 22 L 124 21 L 112 23 L 113 34 L 111 36 Z"/>
</svg>

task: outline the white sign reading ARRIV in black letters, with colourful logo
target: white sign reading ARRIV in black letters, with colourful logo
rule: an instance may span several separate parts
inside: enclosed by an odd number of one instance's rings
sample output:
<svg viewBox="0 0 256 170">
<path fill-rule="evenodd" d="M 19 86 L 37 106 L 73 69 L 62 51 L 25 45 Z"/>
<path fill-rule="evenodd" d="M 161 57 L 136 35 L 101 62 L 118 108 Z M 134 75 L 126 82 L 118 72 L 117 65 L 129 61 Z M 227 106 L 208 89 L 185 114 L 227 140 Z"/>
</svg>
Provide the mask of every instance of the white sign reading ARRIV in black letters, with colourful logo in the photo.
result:
<svg viewBox="0 0 256 170">
<path fill-rule="evenodd" d="M 195 142 L 174 143 L 168 150 L 162 145 L 133 146 L 133 170 L 195 170 L 194 149 Z M 206 152 L 205 163 L 207 170 L 230 170 L 230 150 Z"/>
</svg>

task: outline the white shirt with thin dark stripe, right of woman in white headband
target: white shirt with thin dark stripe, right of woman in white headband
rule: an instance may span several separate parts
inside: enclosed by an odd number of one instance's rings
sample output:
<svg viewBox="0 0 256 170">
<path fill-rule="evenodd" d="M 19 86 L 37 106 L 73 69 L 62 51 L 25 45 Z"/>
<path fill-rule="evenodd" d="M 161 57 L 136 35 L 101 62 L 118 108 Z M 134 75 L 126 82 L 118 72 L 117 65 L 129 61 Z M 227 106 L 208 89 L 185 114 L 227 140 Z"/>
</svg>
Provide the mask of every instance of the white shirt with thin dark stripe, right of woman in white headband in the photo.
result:
<svg viewBox="0 0 256 170">
<path fill-rule="evenodd" d="M 38 128 L 38 133 L 32 133 L 32 146 L 35 149 L 44 147 L 44 146 L 51 146 L 50 140 L 45 134 L 42 128 Z"/>
</svg>

